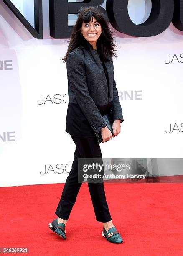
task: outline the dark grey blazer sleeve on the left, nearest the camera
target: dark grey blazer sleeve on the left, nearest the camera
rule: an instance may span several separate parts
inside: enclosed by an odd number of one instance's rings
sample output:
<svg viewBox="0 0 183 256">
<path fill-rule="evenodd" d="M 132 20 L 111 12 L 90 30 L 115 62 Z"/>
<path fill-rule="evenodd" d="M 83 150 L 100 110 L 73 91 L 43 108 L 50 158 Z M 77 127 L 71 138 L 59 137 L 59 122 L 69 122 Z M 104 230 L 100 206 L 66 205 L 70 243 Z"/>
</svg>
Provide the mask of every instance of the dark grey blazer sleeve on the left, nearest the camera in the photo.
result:
<svg viewBox="0 0 183 256">
<path fill-rule="evenodd" d="M 71 88 L 79 107 L 89 121 L 91 128 L 99 133 L 100 129 L 107 126 L 107 124 L 104 118 L 102 118 L 94 100 L 89 95 L 86 72 L 81 55 L 70 52 L 67 56 L 66 68 Z"/>
</svg>

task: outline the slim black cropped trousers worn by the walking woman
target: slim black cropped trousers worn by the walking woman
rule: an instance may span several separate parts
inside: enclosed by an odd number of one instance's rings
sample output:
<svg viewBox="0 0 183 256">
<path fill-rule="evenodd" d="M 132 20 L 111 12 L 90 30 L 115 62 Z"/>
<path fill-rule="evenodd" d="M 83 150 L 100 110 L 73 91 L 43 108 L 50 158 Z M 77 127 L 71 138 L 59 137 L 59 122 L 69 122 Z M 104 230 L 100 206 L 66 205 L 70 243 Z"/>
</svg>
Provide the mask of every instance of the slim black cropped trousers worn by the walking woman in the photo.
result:
<svg viewBox="0 0 183 256">
<path fill-rule="evenodd" d="M 78 182 L 78 158 L 102 158 L 100 145 L 97 143 L 97 138 L 71 137 L 76 144 L 74 161 L 72 163 L 72 169 L 66 179 L 61 199 L 55 212 L 59 218 L 64 220 L 68 220 L 72 207 L 76 202 L 79 189 L 82 185 L 82 183 Z M 88 187 L 96 220 L 100 222 L 112 220 L 105 197 L 104 184 L 88 183 Z"/>
</svg>

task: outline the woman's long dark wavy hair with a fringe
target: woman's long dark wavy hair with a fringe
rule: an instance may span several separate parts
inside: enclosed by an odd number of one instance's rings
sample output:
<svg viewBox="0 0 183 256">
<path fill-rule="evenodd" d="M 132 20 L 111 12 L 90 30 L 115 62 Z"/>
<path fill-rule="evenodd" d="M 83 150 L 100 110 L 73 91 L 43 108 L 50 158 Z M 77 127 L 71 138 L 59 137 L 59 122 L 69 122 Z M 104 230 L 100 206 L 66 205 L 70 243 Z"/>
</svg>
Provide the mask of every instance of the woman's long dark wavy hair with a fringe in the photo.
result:
<svg viewBox="0 0 183 256">
<path fill-rule="evenodd" d="M 74 48 L 79 47 L 79 45 L 84 46 L 84 40 L 86 39 L 81 34 L 81 26 L 83 22 L 89 23 L 91 20 L 93 21 L 93 16 L 102 26 L 102 33 L 100 34 L 100 37 L 97 40 L 97 52 L 99 52 L 100 56 L 104 61 L 109 60 L 107 58 L 107 51 L 109 55 L 113 57 L 117 57 L 117 54 L 115 54 L 114 52 L 114 51 L 117 51 L 117 49 L 115 49 L 116 45 L 114 44 L 114 39 L 112 38 L 113 32 L 108 27 L 108 22 L 107 22 L 107 19 L 105 18 L 105 15 L 97 7 L 87 6 L 87 7 L 81 7 L 79 10 L 78 19 L 73 28 L 67 53 L 64 56 L 64 58 L 62 58 L 63 62 L 66 62 L 68 54 Z"/>
</svg>

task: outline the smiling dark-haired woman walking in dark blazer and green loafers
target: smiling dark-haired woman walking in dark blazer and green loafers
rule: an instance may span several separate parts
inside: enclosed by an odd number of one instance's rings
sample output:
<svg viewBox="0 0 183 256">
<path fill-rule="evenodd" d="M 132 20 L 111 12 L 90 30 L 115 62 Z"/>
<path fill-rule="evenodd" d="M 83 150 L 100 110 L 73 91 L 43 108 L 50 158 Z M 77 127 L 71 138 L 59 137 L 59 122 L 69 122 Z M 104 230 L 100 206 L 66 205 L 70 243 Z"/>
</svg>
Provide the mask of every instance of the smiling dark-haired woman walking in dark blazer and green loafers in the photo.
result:
<svg viewBox="0 0 183 256">
<path fill-rule="evenodd" d="M 58 218 L 49 224 L 64 239 L 66 223 L 82 184 L 78 182 L 78 158 L 102 159 L 94 132 L 101 131 L 103 143 L 120 133 L 123 116 L 114 80 L 114 46 L 104 14 L 96 7 L 81 8 L 68 51 L 63 58 L 67 61 L 69 94 L 66 132 L 71 135 L 76 150 L 72 169 L 55 212 Z M 109 112 L 113 118 L 113 135 L 102 118 Z M 96 220 L 103 223 L 102 236 L 109 242 L 122 243 L 123 240 L 112 223 L 103 182 L 88 182 L 88 187 Z"/>
</svg>

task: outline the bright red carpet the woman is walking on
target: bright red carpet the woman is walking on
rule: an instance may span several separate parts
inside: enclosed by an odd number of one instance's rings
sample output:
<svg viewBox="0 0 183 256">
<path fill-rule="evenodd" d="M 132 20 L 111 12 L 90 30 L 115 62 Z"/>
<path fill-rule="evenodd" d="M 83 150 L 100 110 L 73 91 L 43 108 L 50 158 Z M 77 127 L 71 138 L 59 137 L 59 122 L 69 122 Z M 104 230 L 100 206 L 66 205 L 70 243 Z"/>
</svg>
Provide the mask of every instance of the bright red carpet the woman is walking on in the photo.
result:
<svg viewBox="0 0 183 256">
<path fill-rule="evenodd" d="M 102 223 L 95 220 L 86 183 L 66 224 L 67 240 L 53 233 L 48 223 L 56 218 L 63 186 L 0 188 L 0 247 L 28 247 L 28 255 L 39 256 L 183 255 L 183 184 L 105 183 L 109 210 L 122 244 L 102 237 Z"/>
</svg>

